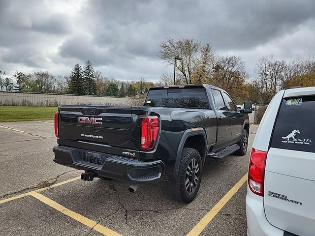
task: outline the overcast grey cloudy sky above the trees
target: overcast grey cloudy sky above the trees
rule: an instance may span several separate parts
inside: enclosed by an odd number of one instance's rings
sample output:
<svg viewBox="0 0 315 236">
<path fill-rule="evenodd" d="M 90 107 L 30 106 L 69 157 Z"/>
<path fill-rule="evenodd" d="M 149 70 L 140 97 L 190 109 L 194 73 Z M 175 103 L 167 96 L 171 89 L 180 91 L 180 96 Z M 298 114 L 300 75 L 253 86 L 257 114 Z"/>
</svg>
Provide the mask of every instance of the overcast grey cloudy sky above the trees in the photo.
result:
<svg viewBox="0 0 315 236">
<path fill-rule="evenodd" d="M 0 0 L 0 70 L 68 75 L 90 59 L 103 76 L 158 80 L 168 37 L 256 60 L 315 55 L 315 0 Z"/>
</svg>

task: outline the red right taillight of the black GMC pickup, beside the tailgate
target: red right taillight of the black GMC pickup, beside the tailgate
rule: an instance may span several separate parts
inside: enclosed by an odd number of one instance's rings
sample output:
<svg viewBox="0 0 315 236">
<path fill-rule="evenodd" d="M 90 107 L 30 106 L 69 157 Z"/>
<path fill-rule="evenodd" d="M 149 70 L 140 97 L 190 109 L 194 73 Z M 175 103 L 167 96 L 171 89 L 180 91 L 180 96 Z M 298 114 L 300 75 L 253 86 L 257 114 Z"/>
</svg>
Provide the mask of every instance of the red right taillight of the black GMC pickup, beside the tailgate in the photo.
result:
<svg viewBox="0 0 315 236">
<path fill-rule="evenodd" d="M 141 116 L 141 149 L 153 150 L 158 139 L 159 120 L 156 116 Z"/>
</svg>

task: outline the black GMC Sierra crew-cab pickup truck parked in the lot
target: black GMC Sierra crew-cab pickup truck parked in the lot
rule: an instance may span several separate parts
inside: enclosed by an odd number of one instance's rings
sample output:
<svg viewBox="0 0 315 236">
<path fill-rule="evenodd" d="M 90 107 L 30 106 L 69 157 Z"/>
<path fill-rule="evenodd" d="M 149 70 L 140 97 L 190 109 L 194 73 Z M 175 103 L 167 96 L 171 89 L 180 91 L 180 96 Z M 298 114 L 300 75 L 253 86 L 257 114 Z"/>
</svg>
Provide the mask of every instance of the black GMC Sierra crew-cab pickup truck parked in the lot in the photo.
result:
<svg viewBox="0 0 315 236">
<path fill-rule="evenodd" d="M 58 164 L 84 170 L 81 179 L 165 180 L 175 200 L 191 202 L 206 157 L 245 155 L 252 103 L 239 110 L 210 85 L 149 89 L 140 107 L 67 106 L 55 114 Z"/>
</svg>

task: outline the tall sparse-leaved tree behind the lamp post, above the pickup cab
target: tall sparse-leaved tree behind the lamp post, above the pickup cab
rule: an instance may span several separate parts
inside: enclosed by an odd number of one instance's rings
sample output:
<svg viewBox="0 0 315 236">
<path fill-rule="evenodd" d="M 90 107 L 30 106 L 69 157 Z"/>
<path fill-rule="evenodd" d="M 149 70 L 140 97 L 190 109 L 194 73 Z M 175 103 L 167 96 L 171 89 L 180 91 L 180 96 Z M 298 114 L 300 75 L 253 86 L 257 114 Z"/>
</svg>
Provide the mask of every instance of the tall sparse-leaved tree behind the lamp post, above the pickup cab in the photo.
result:
<svg viewBox="0 0 315 236">
<path fill-rule="evenodd" d="M 200 42 L 193 39 L 173 40 L 168 38 L 160 44 L 159 57 L 168 65 L 174 65 L 174 58 L 179 56 L 176 68 L 181 72 L 178 77 L 186 84 L 192 83 L 192 78 L 200 78 L 206 72 L 206 67 L 214 53 L 210 44 L 200 47 Z M 197 73 L 197 70 L 199 72 Z"/>
</svg>

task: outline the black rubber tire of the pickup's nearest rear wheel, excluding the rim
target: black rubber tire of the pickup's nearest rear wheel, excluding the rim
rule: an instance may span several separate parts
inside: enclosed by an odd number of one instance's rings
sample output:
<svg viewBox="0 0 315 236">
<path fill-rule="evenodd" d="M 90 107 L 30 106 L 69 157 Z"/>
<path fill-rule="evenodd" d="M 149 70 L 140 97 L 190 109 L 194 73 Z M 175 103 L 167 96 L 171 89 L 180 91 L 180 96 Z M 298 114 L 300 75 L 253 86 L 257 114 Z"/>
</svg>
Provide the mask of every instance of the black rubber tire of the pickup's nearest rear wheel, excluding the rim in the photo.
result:
<svg viewBox="0 0 315 236">
<path fill-rule="evenodd" d="M 194 163 L 196 161 L 198 162 L 199 171 L 197 176 L 198 181 L 197 184 L 195 185 L 194 191 L 192 193 L 189 193 L 188 191 L 190 190 L 190 188 L 189 190 L 187 190 L 185 182 L 187 181 L 187 171 L 188 166 L 191 164 L 191 161 Z M 195 176 L 196 176 L 195 171 L 193 171 L 193 177 Z M 198 193 L 201 177 L 202 161 L 199 152 L 194 148 L 183 148 L 178 175 L 177 177 L 175 177 L 175 180 L 173 182 L 166 182 L 167 190 L 174 200 L 184 203 L 190 203 L 192 200 L 194 200 Z M 194 183 L 195 182 L 193 182 L 193 184 Z"/>
</svg>

